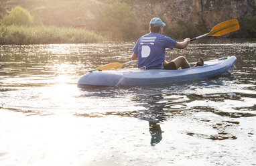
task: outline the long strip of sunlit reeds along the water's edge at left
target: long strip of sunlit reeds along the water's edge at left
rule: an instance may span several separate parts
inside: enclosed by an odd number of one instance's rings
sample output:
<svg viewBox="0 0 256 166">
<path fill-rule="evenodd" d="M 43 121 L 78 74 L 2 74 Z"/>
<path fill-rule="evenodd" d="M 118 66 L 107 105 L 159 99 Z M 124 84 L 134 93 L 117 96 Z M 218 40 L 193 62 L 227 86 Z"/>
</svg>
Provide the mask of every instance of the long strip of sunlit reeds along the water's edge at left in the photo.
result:
<svg viewBox="0 0 256 166">
<path fill-rule="evenodd" d="M 83 44 L 105 37 L 86 29 L 46 26 L 0 26 L 0 44 Z"/>
</svg>

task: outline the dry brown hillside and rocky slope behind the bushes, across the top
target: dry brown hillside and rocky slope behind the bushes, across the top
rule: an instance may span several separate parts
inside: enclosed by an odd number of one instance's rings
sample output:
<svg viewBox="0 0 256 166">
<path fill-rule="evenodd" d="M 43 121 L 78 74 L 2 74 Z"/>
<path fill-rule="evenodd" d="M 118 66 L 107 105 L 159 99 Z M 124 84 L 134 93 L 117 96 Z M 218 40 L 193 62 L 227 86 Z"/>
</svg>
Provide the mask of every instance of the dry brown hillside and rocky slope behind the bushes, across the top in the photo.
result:
<svg viewBox="0 0 256 166">
<path fill-rule="evenodd" d="M 85 27 L 97 31 L 99 24 L 103 20 L 101 13 L 104 9 L 116 0 L 55 0 L 42 1 L 35 0 L 2 0 L 0 2 L 0 17 L 7 15 L 13 7 L 21 6 L 31 15 L 35 16 L 40 23 L 44 25 L 54 25 L 57 27 Z M 227 0 L 227 1 L 119 1 L 125 2 L 131 7 L 141 26 L 136 31 L 148 31 L 148 23 L 152 17 L 161 17 L 170 29 L 182 27 L 184 23 L 191 22 L 196 26 L 196 30 L 207 33 L 214 25 L 229 19 L 238 19 L 241 23 L 241 31 L 233 33 L 233 37 L 247 37 L 241 33 L 244 31 L 243 25 L 248 23 L 247 15 L 255 16 L 256 3 L 253 0 Z M 121 22 L 127 17 L 120 17 L 120 11 L 123 8 L 118 8 L 116 13 Z M 229 9 L 233 9 L 232 12 Z M 131 23 L 133 19 L 127 19 Z M 117 23 L 116 22 L 116 23 Z M 255 26 L 254 26 L 255 27 Z M 103 29 L 106 27 L 103 26 Z M 204 31 L 206 30 L 206 31 Z M 249 36 L 250 37 L 250 36 Z"/>
</svg>

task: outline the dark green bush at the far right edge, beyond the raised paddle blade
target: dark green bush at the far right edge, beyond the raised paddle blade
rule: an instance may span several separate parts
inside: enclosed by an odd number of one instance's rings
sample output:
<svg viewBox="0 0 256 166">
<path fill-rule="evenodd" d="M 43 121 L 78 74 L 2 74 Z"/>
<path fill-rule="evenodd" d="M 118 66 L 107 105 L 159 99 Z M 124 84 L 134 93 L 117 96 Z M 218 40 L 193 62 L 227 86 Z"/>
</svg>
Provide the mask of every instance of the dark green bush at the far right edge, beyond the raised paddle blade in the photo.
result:
<svg viewBox="0 0 256 166">
<path fill-rule="evenodd" d="M 249 35 L 249 37 L 256 37 L 256 15 L 255 16 L 247 16 L 245 18 L 245 31 Z"/>
</svg>

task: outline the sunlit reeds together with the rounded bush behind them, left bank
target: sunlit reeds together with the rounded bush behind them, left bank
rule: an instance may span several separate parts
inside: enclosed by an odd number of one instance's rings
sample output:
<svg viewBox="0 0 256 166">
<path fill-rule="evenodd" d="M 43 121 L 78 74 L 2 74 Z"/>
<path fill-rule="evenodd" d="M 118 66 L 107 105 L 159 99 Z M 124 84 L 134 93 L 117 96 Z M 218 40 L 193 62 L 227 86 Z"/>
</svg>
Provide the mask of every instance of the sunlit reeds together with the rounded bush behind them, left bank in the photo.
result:
<svg viewBox="0 0 256 166">
<path fill-rule="evenodd" d="M 35 25 L 29 11 L 15 7 L 1 19 L 0 44 L 81 44 L 105 40 L 86 29 Z"/>
</svg>

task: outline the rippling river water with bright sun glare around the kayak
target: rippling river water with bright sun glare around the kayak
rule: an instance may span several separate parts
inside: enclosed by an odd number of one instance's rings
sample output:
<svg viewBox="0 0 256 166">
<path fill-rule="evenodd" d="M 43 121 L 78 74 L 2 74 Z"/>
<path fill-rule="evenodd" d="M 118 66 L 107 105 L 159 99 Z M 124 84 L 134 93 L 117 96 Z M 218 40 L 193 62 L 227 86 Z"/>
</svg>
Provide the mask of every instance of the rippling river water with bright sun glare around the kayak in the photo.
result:
<svg viewBox="0 0 256 166">
<path fill-rule="evenodd" d="M 255 39 L 166 52 L 169 61 L 236 56 L 224 76 L 77 87 L 88 70 L 129 61 L 134 44 L 0 46 L 0 165 L 256 165 Z"/>
</svg>

